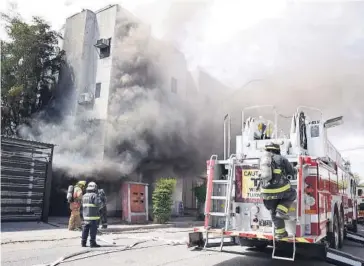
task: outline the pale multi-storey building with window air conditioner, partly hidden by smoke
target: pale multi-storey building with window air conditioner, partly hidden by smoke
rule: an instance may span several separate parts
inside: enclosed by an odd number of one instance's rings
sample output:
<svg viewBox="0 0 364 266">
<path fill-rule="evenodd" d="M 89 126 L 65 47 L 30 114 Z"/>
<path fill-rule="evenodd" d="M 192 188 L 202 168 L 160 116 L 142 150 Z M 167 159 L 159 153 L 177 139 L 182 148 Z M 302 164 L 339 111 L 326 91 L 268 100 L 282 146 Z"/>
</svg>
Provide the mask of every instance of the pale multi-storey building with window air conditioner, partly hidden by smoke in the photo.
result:
<svg viewBox="0 0 364 266">
<path fill-rule="evenodd" d="M 124 102 L 125 88 L 157 87 L 169 100 L 178 98 L 192 104 L 206 105 L 218 99 L 223 85 L 205 72 L 198 78 L 187 70 L 184 55 L 170 43 L 151 37 L 150 28 L 119 5 L 110 5 L 98 11 L 83 10 L 66 20 L 63 49 L 66 52 L 68 79 L 62 79 L 60 87 L 72 91 L 69 109 L 93 134 L 92 141 L 99 143 L 95 150 L 98 160 L 108 153 L 108 122 L 124 109 L 133 108 Z M 203 89 L 205 88 L 205 89 Z M 210 97 L 211 93 L 214 97 Z M 204 112 L 204 110 L 202 110 Z M 205 111 L 206 113 L 206 111 Z M 95 156 L 94 156 L 95 157 Z M 150 200 L 153 184 L 160 177 L 176 177 L 174 214 L 180 202 L 186 208 L 195 208 L 193 186 L 197 176 L 176 174 L 170 166 L 158 169 L 145 166 L 132 173 L 129 179 L 150 184 Z M 115 185 L 109 185 L 115 189 Z M 118 213 L 121 208 L 118 189 L 110 191 L 109 211 Z M 116 195 L 116 196 L 115 196 Z"/>
</svg>

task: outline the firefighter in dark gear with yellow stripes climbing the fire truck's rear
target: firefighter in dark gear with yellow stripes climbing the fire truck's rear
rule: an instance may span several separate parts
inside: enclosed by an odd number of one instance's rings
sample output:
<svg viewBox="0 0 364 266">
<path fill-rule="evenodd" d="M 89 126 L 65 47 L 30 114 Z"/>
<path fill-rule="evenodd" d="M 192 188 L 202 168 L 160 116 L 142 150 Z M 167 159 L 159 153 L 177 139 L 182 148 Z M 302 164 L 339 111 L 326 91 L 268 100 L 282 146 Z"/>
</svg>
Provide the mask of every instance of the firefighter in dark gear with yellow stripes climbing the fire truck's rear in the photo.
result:
<svg viewBox="0 0 364 266">
<path fill-rule="evenodd" d="M 284 220 L 289 219 L 288 210 L 297 197 L 289 179 L 297 170 L 287 158 L 281 156 L 279 145 L 270 143 L 265 146 L 265 150 L 271 158 L 271 179 L 261 185 L 260 192 L 264 206 L 271 213 L 276 238 L 284 238 L 288 236 Z"/>
</svg>

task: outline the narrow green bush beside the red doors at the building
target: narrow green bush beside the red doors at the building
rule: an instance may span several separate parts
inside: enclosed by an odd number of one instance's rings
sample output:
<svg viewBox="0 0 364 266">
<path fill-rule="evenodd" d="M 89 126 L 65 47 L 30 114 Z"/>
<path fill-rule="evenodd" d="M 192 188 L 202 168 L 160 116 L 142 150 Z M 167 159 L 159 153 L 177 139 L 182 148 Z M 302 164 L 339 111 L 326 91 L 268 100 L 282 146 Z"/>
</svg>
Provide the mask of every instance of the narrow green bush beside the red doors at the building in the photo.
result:
<svg viewBox="0 0 364 266">
<path fill-rule="evenodd" d="M 172 195 L 175 187 L 176 179 L 174 178 L 161 178 L 157 181 L 152 195 L 155 222 L 164 224 L 171 217 Z"/>
</svg>

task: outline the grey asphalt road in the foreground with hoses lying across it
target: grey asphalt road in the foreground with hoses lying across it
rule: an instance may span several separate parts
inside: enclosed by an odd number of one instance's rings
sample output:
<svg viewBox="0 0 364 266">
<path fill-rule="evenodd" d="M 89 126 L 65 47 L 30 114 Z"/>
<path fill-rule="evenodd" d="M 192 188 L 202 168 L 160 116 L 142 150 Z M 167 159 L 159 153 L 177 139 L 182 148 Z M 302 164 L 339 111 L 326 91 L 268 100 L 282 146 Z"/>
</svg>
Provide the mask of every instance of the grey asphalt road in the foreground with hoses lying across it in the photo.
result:
<svg viewBox="0 0 364 266">
<path fill-rule="evenodd" d="M 360 228 L 364 234 L 364 228 Z M 62 256 L 91 250 L 90 253 L 67 259 L 62 265 L 79 266 L 80 263 L 92 266 L 110 265 L 330 265 L 328 263 L 298 256 L 295 262 L 272 260 L 272 250 L 267 248 L 259 252 L 240 246 L 226 247 L 225 252 L 216 249 L 208 251 L 191 251 L 184 242 L 188 229 L 170 228 L 149 231 L 137 231 L 118 235 L 103 236 L 106 240 L 114 239 L 116 245 L 105 246 L 100 249 L 81 248 L 80 240 L 67 239 L 59 241 L 14 243 L 2 245 L 1 264 L 3 266 L 34 266 L 56 261 Z M 130 250 L 122 251 L 125 246 L 139 242 Z M 364 258 L 364 248 L 358 244 L 347 242 L 343 251 Z M 105 254 L 108 253 L 108 254 Z"/>
</svg>

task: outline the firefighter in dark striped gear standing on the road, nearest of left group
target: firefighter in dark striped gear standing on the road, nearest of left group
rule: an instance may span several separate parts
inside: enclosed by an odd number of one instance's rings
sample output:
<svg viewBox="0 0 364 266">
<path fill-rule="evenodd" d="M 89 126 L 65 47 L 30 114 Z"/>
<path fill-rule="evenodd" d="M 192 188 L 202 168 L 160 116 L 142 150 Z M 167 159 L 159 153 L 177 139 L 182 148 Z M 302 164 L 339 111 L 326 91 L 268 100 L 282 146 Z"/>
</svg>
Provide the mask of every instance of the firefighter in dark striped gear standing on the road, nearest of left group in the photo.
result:
<svg viewBox="0 0 364 266">
<path fill-rule="evenodd" d="M 88 235 L 90 234 L 90 247 L 100 247 L 96 243 L 97 225 L 100 220 L 100 199 L 97 194 L 97 185 L 90 182 L 86 188 L 86 194 L 82 198 L 83 206 L 83 228 L 81 246 L 86 247 Z"/>
</svg>

